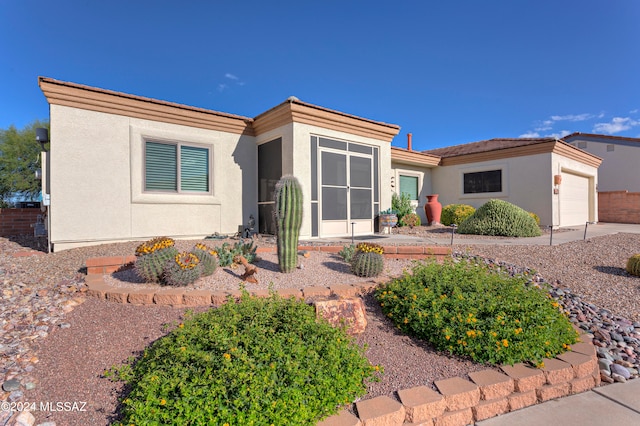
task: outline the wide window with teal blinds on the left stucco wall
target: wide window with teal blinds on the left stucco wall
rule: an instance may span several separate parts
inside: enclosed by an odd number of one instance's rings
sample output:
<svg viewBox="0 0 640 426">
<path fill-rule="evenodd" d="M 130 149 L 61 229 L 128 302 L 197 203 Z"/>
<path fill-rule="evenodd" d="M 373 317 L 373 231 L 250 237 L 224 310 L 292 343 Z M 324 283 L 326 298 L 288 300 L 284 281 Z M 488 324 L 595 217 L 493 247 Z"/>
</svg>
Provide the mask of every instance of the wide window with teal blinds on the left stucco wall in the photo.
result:
<svg viewBox="0 0 640 426">
<path fill-rule="evenodd" d="M 145 141 L 144 191 L 211 192 L 211 152 L 183 143 Z"/>
</svg>

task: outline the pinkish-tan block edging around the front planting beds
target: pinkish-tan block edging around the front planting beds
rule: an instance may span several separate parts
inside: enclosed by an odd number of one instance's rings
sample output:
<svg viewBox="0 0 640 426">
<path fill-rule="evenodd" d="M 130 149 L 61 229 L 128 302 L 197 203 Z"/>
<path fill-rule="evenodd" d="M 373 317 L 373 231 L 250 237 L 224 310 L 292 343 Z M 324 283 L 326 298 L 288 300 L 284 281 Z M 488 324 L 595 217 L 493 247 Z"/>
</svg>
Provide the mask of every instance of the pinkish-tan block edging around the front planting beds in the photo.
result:
<svg viewBox="0 0 640 426">
<path fill-rule="evenodd" d="M 300 250 L 338 252 L 338 246 L 301 246 Z M 273 252 L 275 248 L 259 248 Z M 385 247 L 388 257 L 421 256 L 443 258 L 451 254 L 445 247 L 392 246 Z M 406 258 L 406 257 L 398 257 Z M 418 258 L 418 257 L 415 257 Z M 102 276 L 135 261 L 135 256 L 117 256 L 87 260 L 87 295 L 119 303 L 161 305 L 219 305 L 239 291 L 188 291 L 181 288 L 139 289 L 116 288 L 107 285 Z M 283 297 L 308 298 L 317 296 L 352 297 L 368 291 L 378 283 L 336 284 L 330 287 L 280 289 Z M 254 290 L 251 294 L 268 296 L 268 290 Z M 578 332 L 582 332 L 577 329 Z M 378 426 L 378 425 L 434 425 L 464 426 L 519 410 L 539 402 L 585 392 L 600 385 L 600 371 L 596 350 L 586 334 L 580 343 L 553 359 L 544 359 L 544 367 L 531 368 L 525 364 L 501 367 L 502 372 L 483 370 L 469 373 L 471 380 L 453 377 L 438 380 L 438 391 L 427 386 L 398 390 L 398 400 L 388 396 L 356 402 L 357 416 L 348 410 L 329 417 L 318 426 Z"/>
</svg>

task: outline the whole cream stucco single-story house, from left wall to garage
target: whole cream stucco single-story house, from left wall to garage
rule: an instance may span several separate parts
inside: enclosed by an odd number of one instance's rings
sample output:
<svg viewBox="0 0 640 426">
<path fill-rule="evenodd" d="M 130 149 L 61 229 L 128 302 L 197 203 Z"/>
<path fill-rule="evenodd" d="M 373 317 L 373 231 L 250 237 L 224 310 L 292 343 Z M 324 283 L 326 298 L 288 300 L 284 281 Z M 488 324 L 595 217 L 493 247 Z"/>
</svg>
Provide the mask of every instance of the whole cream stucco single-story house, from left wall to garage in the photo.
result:
<svg viewBox="0 0 640 426">
<path fill-rule="evenodd" d="M 251 218 L 272 233 L 285 174 L 303 189 L 301 238 L 372 234 L 401 190 L 416 207 L 439 193 L 443 204 L 476 207 L 503 198 L 543 224 L 597 220 L 600 159 L 555 139 L 416 152 L 391 147 L 397 125 L 295 97 L 250 118 L 46 77 L 39 85 L 50 105 L 43 192 L 56 251 L 234 234 Z"/>
</svg>

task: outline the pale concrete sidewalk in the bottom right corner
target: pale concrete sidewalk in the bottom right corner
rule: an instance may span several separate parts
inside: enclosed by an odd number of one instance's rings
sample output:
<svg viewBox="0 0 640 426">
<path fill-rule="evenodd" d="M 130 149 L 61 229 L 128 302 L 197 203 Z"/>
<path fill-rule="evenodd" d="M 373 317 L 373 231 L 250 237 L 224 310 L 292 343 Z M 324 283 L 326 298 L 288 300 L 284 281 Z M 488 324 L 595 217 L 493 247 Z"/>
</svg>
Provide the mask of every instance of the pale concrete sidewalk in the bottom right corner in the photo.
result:
<svg viewBox="0 0 640 426">
<path fill-rule="evenodd" d="M 478 426 L 609 426 L 640 425 L 640 379 L 594 388 L 588 392 L 477 422 Z"/>
</svg>

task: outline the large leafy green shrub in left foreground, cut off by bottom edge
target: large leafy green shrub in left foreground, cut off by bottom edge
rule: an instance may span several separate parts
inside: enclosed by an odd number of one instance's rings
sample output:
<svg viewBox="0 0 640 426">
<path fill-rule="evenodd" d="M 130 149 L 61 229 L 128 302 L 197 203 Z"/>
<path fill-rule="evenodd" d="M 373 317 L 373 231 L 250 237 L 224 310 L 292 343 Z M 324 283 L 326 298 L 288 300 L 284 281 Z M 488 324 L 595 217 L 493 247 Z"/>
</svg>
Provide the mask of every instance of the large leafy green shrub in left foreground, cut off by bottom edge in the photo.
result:
<svg viewBox="0 0 640 426">
<path fill-rule="evenodd" d="M 123 425 L 307 425 L 364 395 L 377 371 L 313 307 L 243 292 L 107 373 L 129 385 Z"/>
</svg>

